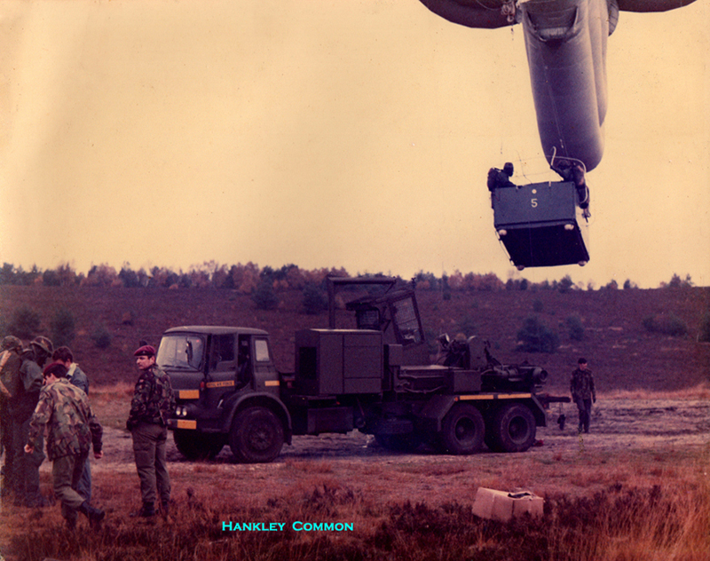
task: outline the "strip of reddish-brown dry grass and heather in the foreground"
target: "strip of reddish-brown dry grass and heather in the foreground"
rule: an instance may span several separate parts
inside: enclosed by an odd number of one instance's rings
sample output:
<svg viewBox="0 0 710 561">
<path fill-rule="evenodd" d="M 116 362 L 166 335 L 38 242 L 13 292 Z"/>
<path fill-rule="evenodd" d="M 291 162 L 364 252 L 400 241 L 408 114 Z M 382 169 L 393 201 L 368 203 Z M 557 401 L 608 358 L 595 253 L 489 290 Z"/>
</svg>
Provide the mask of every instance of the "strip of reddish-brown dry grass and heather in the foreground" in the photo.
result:
<svg viewBox="0 0 710 561">
<path fill-rule="evenodd" d="M 129 518 L 138 478 L 95 474 L 106 509 L 99 533 L 67 533 L 59 507 L 2 514 L 3 555 L 75 559 L 483 559 L 705 561 L 710 555 L 710 448 L 480 454 L 440 461 L 196 463 L 174 470 L 169 518 Z M 43 474 L 43 488 L 49 474 Z M 477 486 L 524 486 L 546 499 L 540 520 L 474 517 Z M 29 518 L 28 518 L 29 515 Z M 30 524 L 28 524 L 28 521 Z M 285 524 L 224 531 L 223 522 Z M 296 532 L 296 521 L 351 523 L 351 532 Z"/>
</svg>

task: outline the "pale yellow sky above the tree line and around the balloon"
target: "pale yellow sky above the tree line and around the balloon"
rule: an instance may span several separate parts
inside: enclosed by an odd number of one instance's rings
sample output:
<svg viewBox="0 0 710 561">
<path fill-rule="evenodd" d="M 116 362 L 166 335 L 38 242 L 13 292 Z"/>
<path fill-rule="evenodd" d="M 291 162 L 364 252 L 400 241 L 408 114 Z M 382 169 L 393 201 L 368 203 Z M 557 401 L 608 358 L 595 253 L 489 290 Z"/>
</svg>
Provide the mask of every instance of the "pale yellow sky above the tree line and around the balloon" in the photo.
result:
<svg viewBox="0 0 710 561">
<path fill-rule="evenodd" d="M 710 285 L 706 0 L 609 39 L 591 261 Z M 416 0 L 0 4 L 0 260 L 514 271 L 486 171 L 541 161 L 522 29 Z"/>
</svg>

